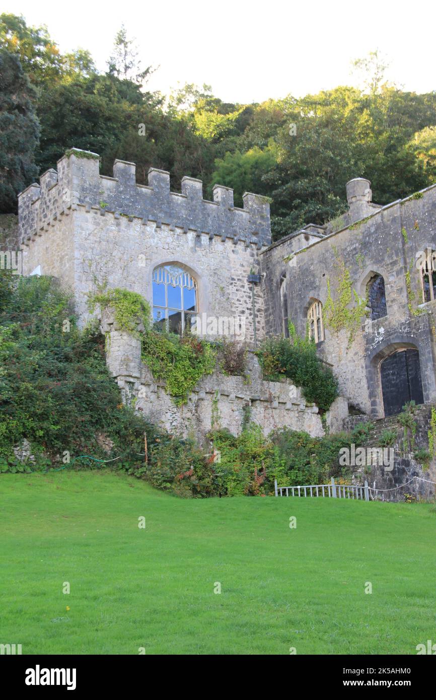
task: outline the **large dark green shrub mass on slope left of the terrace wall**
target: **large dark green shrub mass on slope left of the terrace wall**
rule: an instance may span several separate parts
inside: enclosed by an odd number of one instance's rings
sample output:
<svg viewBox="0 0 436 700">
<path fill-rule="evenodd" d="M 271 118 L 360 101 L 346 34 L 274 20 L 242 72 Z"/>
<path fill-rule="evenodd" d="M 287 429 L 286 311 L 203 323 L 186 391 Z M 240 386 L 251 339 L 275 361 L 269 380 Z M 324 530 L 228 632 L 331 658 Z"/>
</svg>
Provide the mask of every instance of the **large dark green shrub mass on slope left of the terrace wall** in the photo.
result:
<svg viewBox="0 0 436 700">
<path fill-rule="evenodd" d="M 152 428 L 122 405 L 97 326 L 78 330 L 71 300 L 52 279 L 7 277 L 0 276 L 0 456 L 13 458 L 27 438 L 34 468 L 47 455 L 62 465 L 64 451 L 138 460 Z M 113 444 L 110 454 L 99 435 Z"/>
</svg>

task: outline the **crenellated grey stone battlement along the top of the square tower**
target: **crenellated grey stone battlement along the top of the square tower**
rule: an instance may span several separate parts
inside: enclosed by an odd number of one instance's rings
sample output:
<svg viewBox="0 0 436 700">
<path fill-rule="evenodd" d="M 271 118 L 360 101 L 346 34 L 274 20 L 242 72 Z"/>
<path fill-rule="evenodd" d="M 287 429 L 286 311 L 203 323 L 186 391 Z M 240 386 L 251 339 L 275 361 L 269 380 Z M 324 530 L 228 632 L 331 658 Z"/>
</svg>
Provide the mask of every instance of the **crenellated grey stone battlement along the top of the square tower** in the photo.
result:
<svg viewBox="0 0 436 700">
<path fill-rule="evenodd" d="M 20 239 L 28 244 L 57 217 L 69 214 L 77 205 L 87 209 L 155 221 L 157 228 L 167 224 L 212 239 L 220 236 L 256 244 L 271 243 L 269 202 L 265 197 L 245 193 L 244 209 L 234 207 L 233 190 L 213 188 L 213 202 L 203 199 L 203 183 L 184 177 L 181 193 L 170 190 L 169 173 L 156 168 L 148 171 L 148 185 L 136 184 L 134 163 L 115 160 L 113 177 L 100 175 L 99 155 L 72 148 L 18 197 Z"/>
</svg>

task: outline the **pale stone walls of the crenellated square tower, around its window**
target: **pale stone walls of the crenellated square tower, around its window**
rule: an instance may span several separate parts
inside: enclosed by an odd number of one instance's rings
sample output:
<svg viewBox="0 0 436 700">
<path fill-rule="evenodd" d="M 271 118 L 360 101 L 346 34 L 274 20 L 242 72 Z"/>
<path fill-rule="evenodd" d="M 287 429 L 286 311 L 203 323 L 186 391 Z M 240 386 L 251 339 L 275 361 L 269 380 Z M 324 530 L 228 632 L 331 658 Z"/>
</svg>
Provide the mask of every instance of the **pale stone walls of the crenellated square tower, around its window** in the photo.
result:
<svg viewBox="0 0 436 700">
<path fill-rule="evenodd" d="M 80 321 L 87 296 L 98 285 L 135 291 L 153 300 L 153 269 L 177 262 L 198 283 L 199 314 L 245 316 L 253 342 L 253 300 L 248 275 L 259 272 L 258 251 L 270 242 L 269 204 L 244 195 L 233 206 L 229 188 L 216 186 L 214 202 L 202 199 L 202 183 L 184 178 L 182 194 L 170 193 L 169 174 L 150 169 L 137 186 L 134 165 L 116 161 L 116 178 L 99 175 L 98 157 L 73 151 L 58 171 L 41 176 L 41 187 L 20 195 L 23 272 L 41 265 L 76 298 Z M 255 285 L 258 337 L 265 335 L 263 297 Z"/>
</svg>

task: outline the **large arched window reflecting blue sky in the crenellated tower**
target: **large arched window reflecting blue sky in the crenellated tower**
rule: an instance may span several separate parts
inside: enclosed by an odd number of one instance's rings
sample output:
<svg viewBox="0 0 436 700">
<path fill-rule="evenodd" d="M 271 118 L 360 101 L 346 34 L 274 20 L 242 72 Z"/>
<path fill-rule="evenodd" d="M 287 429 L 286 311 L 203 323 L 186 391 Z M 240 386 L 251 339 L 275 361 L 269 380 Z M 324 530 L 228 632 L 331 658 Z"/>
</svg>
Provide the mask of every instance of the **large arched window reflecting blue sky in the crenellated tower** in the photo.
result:
<svg viewBox="0 0 436 700">
<path fill-rule="evenodd" d="M 174 333 L 191 327 L 197 314 L 197 281 L 176 263 L 153 270 L 153 321 Z"/>
</svg>

